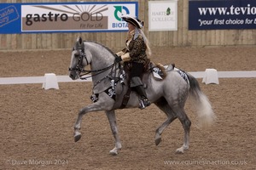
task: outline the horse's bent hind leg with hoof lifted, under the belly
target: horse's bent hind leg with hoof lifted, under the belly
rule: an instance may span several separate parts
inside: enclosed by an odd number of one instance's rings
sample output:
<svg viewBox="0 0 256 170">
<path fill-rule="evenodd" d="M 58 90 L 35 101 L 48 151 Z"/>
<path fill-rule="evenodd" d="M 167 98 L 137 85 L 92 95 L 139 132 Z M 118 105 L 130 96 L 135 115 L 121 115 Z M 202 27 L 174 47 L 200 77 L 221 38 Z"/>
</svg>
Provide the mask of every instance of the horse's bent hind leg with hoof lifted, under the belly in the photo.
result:
<svg viewBox="0 0 256 170">
<path fill-rule="evenodd" d="M 161 134 L 166 129 L 166 127 L 168 127 L 168 125 L 177 118 L 177 116 L 175 116 L 175 113 L 166 102 L 166 99 L 161 99 L 159 102 L 156 102 L 155 105 L 157 105 L 161 111 L 164 111 L 167 116 L 167 120 L 163 122 L 161 126 L 158 127 L 155 131 L 154 143 L 158 145 L 161 142 Z"/>
</svg>

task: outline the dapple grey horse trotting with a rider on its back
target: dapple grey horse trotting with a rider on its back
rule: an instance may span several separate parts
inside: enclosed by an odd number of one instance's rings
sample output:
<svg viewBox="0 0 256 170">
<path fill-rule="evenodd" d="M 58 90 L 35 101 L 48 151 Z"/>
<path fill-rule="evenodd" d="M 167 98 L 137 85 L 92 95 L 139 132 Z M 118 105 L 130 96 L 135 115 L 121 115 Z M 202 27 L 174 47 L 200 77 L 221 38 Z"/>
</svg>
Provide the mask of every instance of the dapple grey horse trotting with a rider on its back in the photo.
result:
<svg viewBox="0 0 256 170">
<path fill-rule="evenodd" d="M 122 105 L 124 95 L 127 91 L 127 81 L 124 73 L 120 73 L 119 63 L 114 63 L 113 52 L 97 42 L 83 41 L 78 37 L 73 47 L 71 62 L 69 65 L 69 77 L 73 80 L 83 77 L 82 73 L 90 73 L 93 82 L 91 99 L 92 104 L 84 106 L 79 111 L 79 116 L 74 125 L 74 140 L 81 138 L 80 124 L 82 117 L 88 112 L 105 111 L 115 139 L 113 150 L 110 154 L 118 155 L 121 150 L 115 110 Z M 86 65 L 90 65 L 91 70 L 84 70 Z M 123 76 L 123 77 L 122 77 Z M 147 86 L 146 93 L 151 103 L 154 103 L 161 111 L 166 113 L 167 119 L 155 131 L 155 144 L 160 144 L 161 134 L 165 128 L 176 118 L 182 123 L 184 129 L 183 145 L 176 150 L 176 153 L 183 153 L 189 149 L 189 131 L 191 122 L 184 111 L 186 100 L 191 98 L 195 105 L 198 116 L 198 123 L 201 127 L 210 126 L 214 122 L 215 114 L 212 111 L 207 96 L 202 93 L 199 83 L 195 77 L 185 71 L 172 69 L 172 65 L 166 68 L 166 77 L 157 80 L 151 71 L 143 76 L 143 83 Z M 137 108 L 139 106 L 138 96 L 131 91 L 130 99 L 125 108 Z M 138 122 L 139 123 L 139 122 Z"/>
</svg>

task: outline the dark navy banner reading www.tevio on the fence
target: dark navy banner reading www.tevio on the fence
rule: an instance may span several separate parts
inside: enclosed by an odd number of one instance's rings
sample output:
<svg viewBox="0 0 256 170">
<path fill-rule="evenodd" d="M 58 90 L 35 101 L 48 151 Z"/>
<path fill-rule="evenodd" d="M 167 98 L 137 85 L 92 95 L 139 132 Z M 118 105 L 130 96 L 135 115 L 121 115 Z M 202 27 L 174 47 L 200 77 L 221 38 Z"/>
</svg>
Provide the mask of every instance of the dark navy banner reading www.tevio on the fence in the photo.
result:
<svg viewBox="0 0 256 170">
<path fill-rule="evenodd" d="M 189 1 L 189 30 L 256 29 L 255 0 Z"/>
</svg>

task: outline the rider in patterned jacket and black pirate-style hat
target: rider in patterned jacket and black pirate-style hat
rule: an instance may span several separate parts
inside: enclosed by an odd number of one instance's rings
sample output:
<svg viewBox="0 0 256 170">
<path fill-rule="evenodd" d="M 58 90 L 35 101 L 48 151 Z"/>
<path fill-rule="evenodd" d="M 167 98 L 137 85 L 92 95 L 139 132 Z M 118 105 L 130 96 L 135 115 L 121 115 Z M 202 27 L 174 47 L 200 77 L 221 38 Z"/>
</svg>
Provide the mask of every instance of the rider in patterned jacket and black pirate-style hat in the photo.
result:
<svg viewBox="0 0 256 170">
<path fill-rule="evenodd" d="M 131 89 L 135 90 L 140 95 L 140 108 L 144 109 L 150 105 L 150 101 L 147 98 L 147 94 L 143 87 L 142 76 L 143 69 L 149 59 L 148 54 L 151 54 L 151 50 L 148 45 L 148 39 L 145 37 L 142 29 L 144 22 L 129 15 L 123 15 L 122 19 L 128 24 L 127 40 L 125 42 L 125 48 L 116 54 L 115 62 L 124 61 L 131 65 Z"/>
</svg>

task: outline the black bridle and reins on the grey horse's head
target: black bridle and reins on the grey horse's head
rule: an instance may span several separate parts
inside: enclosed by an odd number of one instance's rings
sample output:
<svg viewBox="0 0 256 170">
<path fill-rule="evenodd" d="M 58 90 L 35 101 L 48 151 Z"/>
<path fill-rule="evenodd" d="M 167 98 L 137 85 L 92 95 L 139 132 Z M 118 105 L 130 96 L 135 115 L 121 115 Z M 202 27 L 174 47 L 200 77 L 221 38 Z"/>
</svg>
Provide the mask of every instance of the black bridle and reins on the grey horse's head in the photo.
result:
<svg viewBox="0 0 256 170">
<path fill-rule="evenodd" d="M 73 50 L 75 50 L 75 49 L 73 48 Z M 109 66 L 107 66 L 103 69 L 99 69 L 99 70 L 92 70 L 92 71 L 91 70 L 84 70 L 83 59 L 86 60 L 86 65 L 90 64 L 88 59 L 87 59 L 87 56 L 84 52 L 84 49 L 79 48 L 79 54 L 75 54 L 75 57 L 78 59 L 78 63 L 74 68 L 69 67 L 68 71 L 77 71 L 78 74 L 79 74 L 80 79 L 82 79 L 82 80 L 84 80 L 84 79 L 86 80 L 87 78 L 94 77 L 98 74 L 101 74 L 104 71 L 108 71 L 109 69 L 113 68 L 113 65 L 114 65 L 114 63 L 113 63 L 112 65 L 109 65 Z M 81 74 L 82 72 L 84 74 Z M 93 72 L 96 72 L 96 74 L 90 75 L 88 77 L 83 77 L 83 76 L 88 75 L 88 74 L 93 73 Z"/>
</svg>

